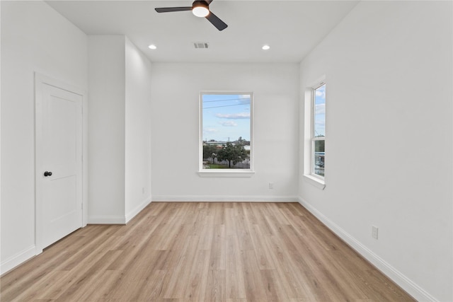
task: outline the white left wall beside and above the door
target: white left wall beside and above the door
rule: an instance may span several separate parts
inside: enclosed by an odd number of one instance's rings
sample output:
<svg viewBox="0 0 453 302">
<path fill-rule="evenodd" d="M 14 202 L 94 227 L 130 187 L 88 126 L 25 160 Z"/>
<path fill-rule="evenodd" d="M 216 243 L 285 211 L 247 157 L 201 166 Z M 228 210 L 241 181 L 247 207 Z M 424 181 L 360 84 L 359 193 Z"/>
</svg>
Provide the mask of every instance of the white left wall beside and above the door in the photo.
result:
<svg viewBox="0 0 453 302">
<path fill-rule="evenodd" d="M 35 255 L 34 73 L 87 88 L 86 35 L 41 1 L 1 1 L 1 272 Z"/>
</svg>

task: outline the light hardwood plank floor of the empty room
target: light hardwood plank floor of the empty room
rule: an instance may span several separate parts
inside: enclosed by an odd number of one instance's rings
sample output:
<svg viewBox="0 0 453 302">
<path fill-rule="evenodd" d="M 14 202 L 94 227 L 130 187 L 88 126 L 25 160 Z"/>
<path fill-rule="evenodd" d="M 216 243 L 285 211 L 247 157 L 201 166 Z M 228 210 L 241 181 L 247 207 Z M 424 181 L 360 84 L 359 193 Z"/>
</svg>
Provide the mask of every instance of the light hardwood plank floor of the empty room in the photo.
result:
<svg viewBox="0 0 453 302">
<path fill-rule="evenodd" d="M 153 202 L 1 277 L 1 301 L 414 301 L 297 203 Z"/>
</svg>

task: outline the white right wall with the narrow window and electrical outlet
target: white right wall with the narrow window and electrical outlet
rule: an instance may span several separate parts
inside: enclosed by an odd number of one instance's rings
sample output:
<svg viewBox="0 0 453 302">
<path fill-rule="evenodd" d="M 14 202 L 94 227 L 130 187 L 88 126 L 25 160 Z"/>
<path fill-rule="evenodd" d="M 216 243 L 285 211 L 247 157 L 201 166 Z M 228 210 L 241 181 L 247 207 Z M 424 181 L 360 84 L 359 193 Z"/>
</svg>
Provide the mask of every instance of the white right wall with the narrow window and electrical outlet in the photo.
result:
<svg viewBox="0 0 453 302">
<path fill-rule="evenodd" d="M 420 301 L 453 301 L 452 63 L 451 1 L 362 1 L 301 64 L 327 81 L 326 189 L 301 177 L 302 204 Z"/>
</svg>

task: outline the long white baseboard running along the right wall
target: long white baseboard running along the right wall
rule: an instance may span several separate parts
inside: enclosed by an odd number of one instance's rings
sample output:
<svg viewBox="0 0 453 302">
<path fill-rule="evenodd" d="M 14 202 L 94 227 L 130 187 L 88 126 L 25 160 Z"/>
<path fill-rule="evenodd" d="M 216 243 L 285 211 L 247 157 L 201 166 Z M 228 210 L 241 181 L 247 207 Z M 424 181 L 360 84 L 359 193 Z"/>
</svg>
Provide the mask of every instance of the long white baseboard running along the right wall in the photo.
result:
<svg viewBox="0 0 453 302">
<path fill-rule="evenodd" d="M 372 250 L 369 250 L 365 245 L 362 245 L 359 240 L 352 237 L 349 233 L 340 228 L 336 223 L 324 216 L 320 211 L 315 209 L 309 202 L 299 197 L 299 204 L 309 210 L 311 214 L 316 216 L 325 226 L 327 226 L 333 233 L 336 233 L 345 243 L 350 245 L 355 251 L 357 251 L 362 257 L 372 263 L 377 269 L 383 274 L 394 281 L 398 286 L 401 286 L 408 294 L 413 296 L 417 301 L 433 301 L 438 302 L 436 298 L 428 294 L 424 289 L 415 284 L 411 279 L 406 277 L 404 274 L 399 272 L 397 269 L 389 265 L 385 260 L 376 255 Z"/>
</svg>

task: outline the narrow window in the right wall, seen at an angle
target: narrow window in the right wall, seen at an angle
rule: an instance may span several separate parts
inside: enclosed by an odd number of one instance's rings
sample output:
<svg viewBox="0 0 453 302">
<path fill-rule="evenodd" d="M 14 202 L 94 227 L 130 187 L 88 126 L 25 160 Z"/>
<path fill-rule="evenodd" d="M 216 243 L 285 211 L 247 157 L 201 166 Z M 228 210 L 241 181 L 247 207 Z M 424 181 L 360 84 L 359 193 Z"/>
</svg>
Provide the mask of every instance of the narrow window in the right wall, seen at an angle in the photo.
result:
<svg viewBox="0 0 453 302">
<path fill-rule="evenodd" d="M 326 83 L 311 92 L 311 174 L 324 178 L 326 163 Z"/>
</svg>

